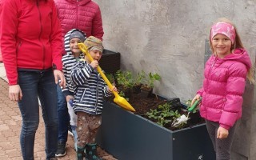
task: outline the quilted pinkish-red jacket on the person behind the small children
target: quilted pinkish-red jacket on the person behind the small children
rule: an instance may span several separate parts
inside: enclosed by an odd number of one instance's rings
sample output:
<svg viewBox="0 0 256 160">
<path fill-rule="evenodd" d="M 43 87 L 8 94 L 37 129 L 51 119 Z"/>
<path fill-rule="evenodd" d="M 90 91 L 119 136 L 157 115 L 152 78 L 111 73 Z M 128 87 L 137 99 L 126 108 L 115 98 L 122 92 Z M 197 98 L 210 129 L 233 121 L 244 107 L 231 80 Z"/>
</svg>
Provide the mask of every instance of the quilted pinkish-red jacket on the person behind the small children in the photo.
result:
<svg viewBox="0 0 256 160">
<path fill-rule="evenodd" d="M 102 40 L 102 14 L 97 3 L 91 0 L 54 0 L 62 26 L 62 37 L 71 29 L 79 29 L 86 37 L 93 35 Z"/>
</svg>

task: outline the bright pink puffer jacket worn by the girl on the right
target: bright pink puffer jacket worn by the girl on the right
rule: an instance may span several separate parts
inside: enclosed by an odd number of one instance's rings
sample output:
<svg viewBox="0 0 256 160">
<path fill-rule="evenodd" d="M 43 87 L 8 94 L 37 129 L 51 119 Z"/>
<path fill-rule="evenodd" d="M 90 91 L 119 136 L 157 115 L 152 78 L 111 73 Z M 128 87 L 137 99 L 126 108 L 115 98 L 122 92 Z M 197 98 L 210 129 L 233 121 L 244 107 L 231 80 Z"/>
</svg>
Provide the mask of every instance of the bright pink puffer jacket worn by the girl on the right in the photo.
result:
<svg viewBox="0 0 256 160">
<path fill-rule="evenodd" d="M 202 118 L 219 122 L 227 130 L 241 118 L 242 94 L 250 67 L 250 57 L 244 49 L 236 49 L 223 59 L 210 57 L 206 62 L 203 87 L 198 90 L 202 96 Z"/>
</svg>

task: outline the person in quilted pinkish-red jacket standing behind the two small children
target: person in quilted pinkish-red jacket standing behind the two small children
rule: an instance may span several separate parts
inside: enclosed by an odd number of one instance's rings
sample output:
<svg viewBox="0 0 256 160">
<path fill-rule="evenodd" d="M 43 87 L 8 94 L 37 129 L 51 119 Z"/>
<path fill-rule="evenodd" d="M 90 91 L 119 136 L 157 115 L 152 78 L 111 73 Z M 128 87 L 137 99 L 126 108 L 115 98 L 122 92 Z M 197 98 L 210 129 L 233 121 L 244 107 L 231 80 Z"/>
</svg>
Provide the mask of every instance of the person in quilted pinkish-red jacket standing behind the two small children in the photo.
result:
<svg viewBox="0 0 256 160">
<path fill-rule="evenodd" d="M 78 29 L 86 33 L 86 37 L 93 35 L 102 40 L 102 14 L 96 2 L 92 0 L 54 0 L 58 8 L 58 17 L 62 26 L 62 38 L 72 30 Z M 64 45 L 63 45 L 64 46 Z M 66 54 L 64 47 L 63 53 Z M 62 90 L 63 91 L 63 90 Z M 70 95 L 63 95 L 61 89 L 57 86 L 58 93 L 58 150 L 56 156 L 66 155 L 66 142 L 68 133 L 69 114 L 66 102 L 69 102 Z M 72 132 L 76 135 L 75 126 L 71 126 Z M 75 137 L 74 137 L 75 139 Z"/>
</svg>

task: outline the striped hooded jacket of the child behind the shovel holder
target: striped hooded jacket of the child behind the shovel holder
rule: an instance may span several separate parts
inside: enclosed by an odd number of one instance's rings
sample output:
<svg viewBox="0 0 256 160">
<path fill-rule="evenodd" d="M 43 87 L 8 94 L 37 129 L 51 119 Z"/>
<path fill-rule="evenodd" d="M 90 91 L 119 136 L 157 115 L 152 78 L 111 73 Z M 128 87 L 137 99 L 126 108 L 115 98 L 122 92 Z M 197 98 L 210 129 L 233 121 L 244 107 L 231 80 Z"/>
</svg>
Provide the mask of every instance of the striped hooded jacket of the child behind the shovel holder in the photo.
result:
<svg viewBox="0 0 256 160">
<path fill-rule="evenodd" d="M 62 71 L 66 79 L 66 88 L 62 89 L 62 93 L 65 95 L 65 97 L 67 95 L 74 96 L 74 86 L 72 86 L 72 83 L 70 82 L 70 72 L 72 67 L 77 62 L 77 59 L 74 58 L 74 55 L 72 54 L 70 49 L 70 34 L 75 30 L 77 29 L 68 31 L 64 37 L 64 47 L 65 47 L 66 54 L 62 57 Z M 78 31 L 82 32 L 81 30 L 78 30 Z M 82 32 L 82 34 L 84 33 Z M 85 37 L 86 37 L 86 34 L 85 34 Z M 79 59 L 84 57 L 85 57 L 84 54 L 82 54 L 81 52 Z"/>
</svg>

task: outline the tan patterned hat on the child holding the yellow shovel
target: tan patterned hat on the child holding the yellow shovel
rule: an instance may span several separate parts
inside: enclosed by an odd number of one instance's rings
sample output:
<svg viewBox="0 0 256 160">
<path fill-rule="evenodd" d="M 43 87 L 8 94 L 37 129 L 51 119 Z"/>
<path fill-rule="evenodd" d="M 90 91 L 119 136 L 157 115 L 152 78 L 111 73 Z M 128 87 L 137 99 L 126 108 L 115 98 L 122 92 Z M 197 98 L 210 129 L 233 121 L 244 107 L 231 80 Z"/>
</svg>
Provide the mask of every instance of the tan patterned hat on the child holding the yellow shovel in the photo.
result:
<svg viewBox="0 0 256 160">
<path fill-rule="evenodd" d="M 100 52 L 103 52 L 103 45 L 102 41 L 98 38 L 95 38 L 94 36 L 90 36 L 89 38 L 86 38 L 86 41 L 84 44 L 87 46 L 87 49 L 90 50 L 99 50 Z"/>
</svg>

